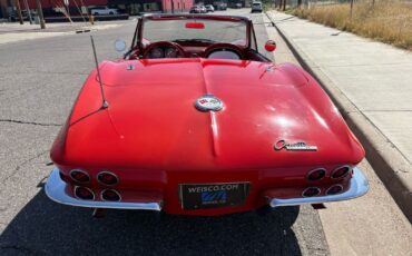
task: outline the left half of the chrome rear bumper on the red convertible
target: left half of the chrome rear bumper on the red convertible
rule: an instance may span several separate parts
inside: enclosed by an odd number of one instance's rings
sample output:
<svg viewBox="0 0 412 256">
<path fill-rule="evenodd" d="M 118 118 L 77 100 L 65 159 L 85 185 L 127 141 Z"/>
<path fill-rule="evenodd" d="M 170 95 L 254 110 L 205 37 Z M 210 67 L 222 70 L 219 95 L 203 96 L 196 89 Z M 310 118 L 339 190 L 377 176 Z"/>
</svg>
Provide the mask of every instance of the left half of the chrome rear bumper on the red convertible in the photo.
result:
<svg viewBox="0 0 412 256">
<path fill-rule="evenodd" d="M 60 178 L 59 169 L 55 167 L 47 179 L 45 191 L 46 195 L 56 203 L 88 208 L 161 210 L 161 203 L 97 201 L 77 199 L 66 193 L 66 186 L 67 184 Z"/>
</svg>

